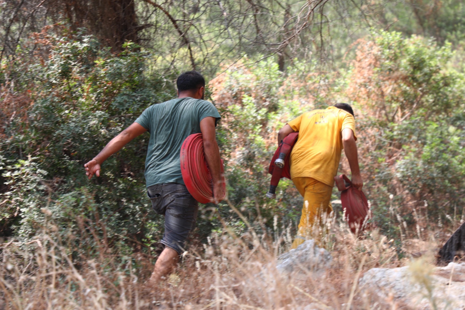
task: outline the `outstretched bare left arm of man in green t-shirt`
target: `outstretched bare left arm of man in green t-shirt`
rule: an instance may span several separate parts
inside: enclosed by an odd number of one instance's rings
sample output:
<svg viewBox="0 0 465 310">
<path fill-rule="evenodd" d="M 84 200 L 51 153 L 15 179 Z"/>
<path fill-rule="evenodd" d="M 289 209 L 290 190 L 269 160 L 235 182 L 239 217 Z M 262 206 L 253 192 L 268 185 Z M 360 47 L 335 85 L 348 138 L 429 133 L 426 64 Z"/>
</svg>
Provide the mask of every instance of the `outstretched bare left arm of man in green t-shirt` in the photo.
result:
<svg viewBox="0 0 465 310">
<path fill-rule="evenodd" d="M 99 155 L 95 156 L 84 167 L 86 168 L 86 176 L 90 179 L 95 174 L 100 177 L 100 165 L 114 153 L 120 151 L 132 139 L 140 136 L 147 130 L 138 123 L 133 123 L 125 130 L 120 132 L 119 135 L 114 137 L 107 145 L 100 151 Z"/>
</svg>

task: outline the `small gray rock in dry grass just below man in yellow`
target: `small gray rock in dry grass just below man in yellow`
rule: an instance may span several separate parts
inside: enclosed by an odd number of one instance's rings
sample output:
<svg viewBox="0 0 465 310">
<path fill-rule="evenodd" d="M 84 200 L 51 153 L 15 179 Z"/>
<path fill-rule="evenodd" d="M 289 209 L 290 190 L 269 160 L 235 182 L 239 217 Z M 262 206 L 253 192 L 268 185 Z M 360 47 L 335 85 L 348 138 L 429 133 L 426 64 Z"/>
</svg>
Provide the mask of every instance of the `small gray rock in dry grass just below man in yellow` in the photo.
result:
<svg viewBox="0 0 465 310">
<path fill-rule="evenodd" d="M 326 270 L 331 264 L 332 257 L 325 249 L 320 249 L 314 240 L 307 240 L 297 249 L 292 249 L 278 257 L 276 269 L 281 273 L 293 271 Z"/>
</svg>

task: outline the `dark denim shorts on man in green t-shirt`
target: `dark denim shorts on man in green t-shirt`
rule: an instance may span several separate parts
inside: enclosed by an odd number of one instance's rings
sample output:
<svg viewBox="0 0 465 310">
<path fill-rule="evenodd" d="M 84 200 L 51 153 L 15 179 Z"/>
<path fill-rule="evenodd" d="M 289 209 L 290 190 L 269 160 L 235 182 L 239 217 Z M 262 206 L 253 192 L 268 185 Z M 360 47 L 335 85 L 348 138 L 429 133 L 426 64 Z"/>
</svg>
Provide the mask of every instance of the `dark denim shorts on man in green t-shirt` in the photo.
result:
<svg viewBox="0 0 465 310">
<path fill-rule="evenodd" d="M 186 185 L 166 183 L 147 188 L 152 208 L 165 217 L 165 233 L 160 243 L 183 253 L 184 243 L 195 227 L 199 203 L 187 191 Z"/>
</svg>

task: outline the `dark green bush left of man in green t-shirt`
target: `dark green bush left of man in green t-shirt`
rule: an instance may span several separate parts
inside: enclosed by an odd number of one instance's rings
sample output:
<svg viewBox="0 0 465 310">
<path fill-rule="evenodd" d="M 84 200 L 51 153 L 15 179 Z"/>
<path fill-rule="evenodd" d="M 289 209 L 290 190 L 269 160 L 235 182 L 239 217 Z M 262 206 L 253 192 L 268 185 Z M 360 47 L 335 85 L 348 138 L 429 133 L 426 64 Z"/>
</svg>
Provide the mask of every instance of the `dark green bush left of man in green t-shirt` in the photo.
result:
<svg viewBox="0 0 465 310">
<path fill-rule="evenodd" d="M 17 236 L 40 233 L 46 208 L 60 231 L 75 237 L 82 228 L 77 218 L 104 223 L 113 241 L 157 237 L 159 226 L 147 224 L 153 218 L 144 195 L 146 136 L 110 158 L 99 179 L 89 182 L 83 165 L 147 106 L 172 98 L 173 88 L 145 75 L 149 55 L 130 43 L 119 55 L 89 36 L 44 32 L 35 43 L 42 52 L 33 64 L 8 68 L 23 70 L 21 84 L 9 92 L 26 94 L 33 104 L 26 118 L 11 115 L 1 141 L 3 233 L 12 225 Z"/>
</svg>

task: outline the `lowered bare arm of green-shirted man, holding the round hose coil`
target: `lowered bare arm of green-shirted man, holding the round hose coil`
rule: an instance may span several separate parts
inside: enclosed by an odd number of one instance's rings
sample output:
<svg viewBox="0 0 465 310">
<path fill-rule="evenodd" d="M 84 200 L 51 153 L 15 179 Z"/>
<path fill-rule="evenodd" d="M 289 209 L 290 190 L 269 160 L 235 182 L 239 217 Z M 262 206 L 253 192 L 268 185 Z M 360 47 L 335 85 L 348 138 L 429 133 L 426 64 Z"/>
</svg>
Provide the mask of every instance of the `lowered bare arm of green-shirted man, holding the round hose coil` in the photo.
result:
<svg viewBox="0 0 465 310">
<path fill-rule="evenodd" d="M 216 142 L 215 118 L 208 116 L 200 121 L 200 131 L 204 144 L 204 153 L 208 169 L 213 179 L 213 197 L 215 204 L 218 204 L 224 197 L 221 189 L 221 159 L 219 157 L 219 147 Z"/>
</svg>

